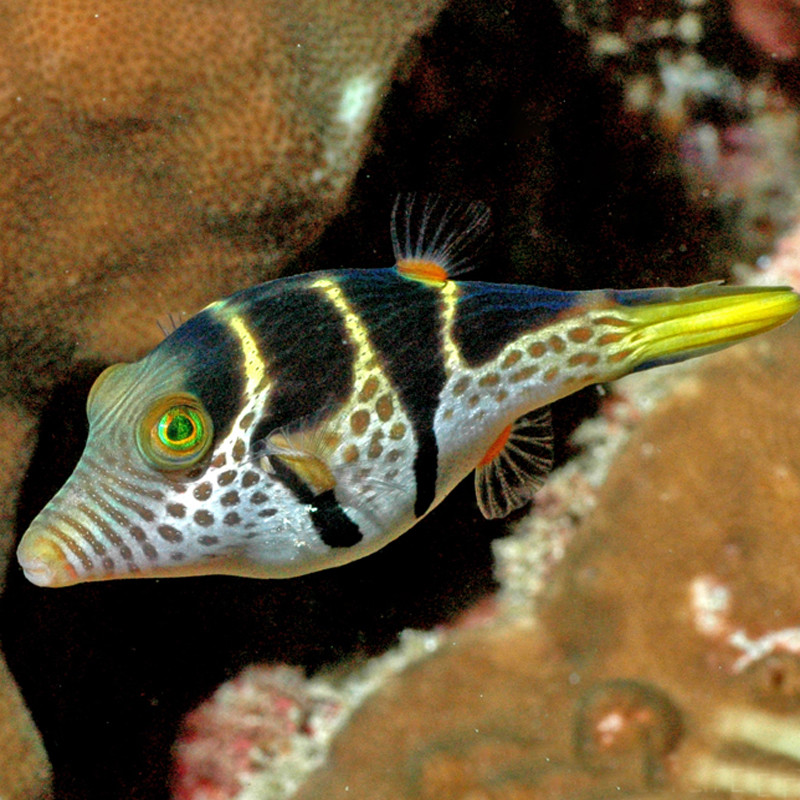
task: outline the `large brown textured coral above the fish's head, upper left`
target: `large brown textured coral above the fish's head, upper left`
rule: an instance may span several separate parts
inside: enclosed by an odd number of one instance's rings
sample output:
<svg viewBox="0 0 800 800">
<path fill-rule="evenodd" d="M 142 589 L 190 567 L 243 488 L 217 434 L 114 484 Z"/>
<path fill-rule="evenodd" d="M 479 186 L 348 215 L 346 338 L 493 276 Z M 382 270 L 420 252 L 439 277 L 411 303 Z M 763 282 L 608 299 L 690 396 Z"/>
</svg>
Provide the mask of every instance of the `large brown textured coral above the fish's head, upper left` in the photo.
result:
<svg viewBox="0 0 800 800">
<path fill-rule="evenodd" d="M 4 327 L 130 359 L 152 320 L 274 275 L 341 207 L 436 0 L 12 3 Z"/>
</svg>

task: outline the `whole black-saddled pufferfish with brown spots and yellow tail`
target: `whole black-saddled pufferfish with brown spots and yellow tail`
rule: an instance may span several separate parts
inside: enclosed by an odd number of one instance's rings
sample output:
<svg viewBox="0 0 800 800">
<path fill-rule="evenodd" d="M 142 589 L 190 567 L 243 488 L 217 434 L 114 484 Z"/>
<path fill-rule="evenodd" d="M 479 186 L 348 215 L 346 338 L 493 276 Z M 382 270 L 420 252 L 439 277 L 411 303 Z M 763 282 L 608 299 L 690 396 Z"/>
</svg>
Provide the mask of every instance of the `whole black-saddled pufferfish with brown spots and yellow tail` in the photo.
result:
<svg viewBox="0 0 800 800">
<path fill-rule="evenodd" d="M 800 308 L 781 287 L 456 280 L 487 218 L 396 206 L 393 267 L 244 289 L 106 369 L 80 461 L 20 542 L 27 578 L 302 575 L 383 547 L 473 471 L 484 516 L 506 516 L 551 465 L 548 404 Z"/>
</svg>

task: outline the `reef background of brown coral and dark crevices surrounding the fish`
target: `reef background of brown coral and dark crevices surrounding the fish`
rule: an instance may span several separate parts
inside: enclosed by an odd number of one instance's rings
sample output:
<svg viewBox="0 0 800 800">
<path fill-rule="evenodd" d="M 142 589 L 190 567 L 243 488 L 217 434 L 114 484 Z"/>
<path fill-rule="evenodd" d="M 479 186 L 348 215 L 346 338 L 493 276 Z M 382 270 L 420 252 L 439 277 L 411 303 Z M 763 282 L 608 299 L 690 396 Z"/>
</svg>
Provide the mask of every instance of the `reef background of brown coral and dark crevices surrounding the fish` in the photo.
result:
<svg viewBox="0 0 800 800">
<path fill-rule="evenodd" d="M 398 192 L 491 207 L 476 280 L 800 286 L 796 2 L 29 0 L 0 41 L 0 794 L 800 797 L 796 323 L 559 402 L 510 524 L 468 484 L 289 581 L 13 559 L 105 366 L 390 265 Z"/>
</svg>

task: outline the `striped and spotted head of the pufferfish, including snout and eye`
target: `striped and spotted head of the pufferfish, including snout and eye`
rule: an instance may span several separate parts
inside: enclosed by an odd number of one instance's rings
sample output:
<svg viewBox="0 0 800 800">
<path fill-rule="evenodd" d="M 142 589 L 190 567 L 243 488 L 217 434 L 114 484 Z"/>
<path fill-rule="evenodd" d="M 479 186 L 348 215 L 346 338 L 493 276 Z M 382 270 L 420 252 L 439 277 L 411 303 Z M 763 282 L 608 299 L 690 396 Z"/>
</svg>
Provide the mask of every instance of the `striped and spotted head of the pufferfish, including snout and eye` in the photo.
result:
<svg viewBox="0 0 800 800">
<path fill-rule="evenodd" d="M 230 469 L 243 442 L 215 431 L 179 360 L 156 353 L 109 367 L 91 389 L 87 416 L 75 470 L 19 544 L 28 580 L 67 586 L 237 572 L 244 548 L 221 541 L 214 526 L 235 522 L 246 536 L 237 486 L 264 476 Z"/>
</svg>

